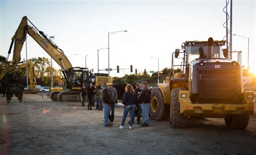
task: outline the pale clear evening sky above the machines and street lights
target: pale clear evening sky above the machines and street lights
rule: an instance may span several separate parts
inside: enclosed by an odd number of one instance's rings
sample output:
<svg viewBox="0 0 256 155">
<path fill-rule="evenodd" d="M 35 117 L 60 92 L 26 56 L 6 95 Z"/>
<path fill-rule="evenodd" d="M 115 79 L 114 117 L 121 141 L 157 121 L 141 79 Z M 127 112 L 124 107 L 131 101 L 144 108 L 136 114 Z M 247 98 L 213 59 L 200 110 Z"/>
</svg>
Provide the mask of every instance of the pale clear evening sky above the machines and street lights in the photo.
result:
<svg viewBox="0 0 256 155">
<path fill-rule="evenodd" d="M 23 16 L 49 36 L 68 56 L 73 67 L 98 70 L 97 49 L 108 48 L 110 68 L 119 65 L 120 73 L 130 74 L 130 65 L 138 72 L 171 68 L 171 55 L 185 41 L 222 40 L 226 1 L 5 1 L 0 0 L 0 55 L 7 56 L 11 38 Z M 233 1 L 232 33 L 250 38 L 249 65 L 255 64 L 255 8 L 251 1 Z M 230 5 L 228 5 L 230 13 Z M 230 24 L 228 23 L 228 27 Z M 242 51 L 247 68 L 248 40 L 232 37 L 232 49 Z M 29 36 L 28 59 L 50 56 Z M 12 53 L 11 53 L 12 55 Z M 154 57 L 154 58 L 151 58 Z M 22 59 L 26 58 L 25 45 Z M 236 55 L 233 59 L 237 60 Z M 9 58 L 11 60 L 11 57 Z M 57 69 L 60 67 L 53 62 Z M 108 68 L 108 50 L 99 51 L 99 69 Z M 105 71 L 100 71 L 107 73 Z"/>
</svg>

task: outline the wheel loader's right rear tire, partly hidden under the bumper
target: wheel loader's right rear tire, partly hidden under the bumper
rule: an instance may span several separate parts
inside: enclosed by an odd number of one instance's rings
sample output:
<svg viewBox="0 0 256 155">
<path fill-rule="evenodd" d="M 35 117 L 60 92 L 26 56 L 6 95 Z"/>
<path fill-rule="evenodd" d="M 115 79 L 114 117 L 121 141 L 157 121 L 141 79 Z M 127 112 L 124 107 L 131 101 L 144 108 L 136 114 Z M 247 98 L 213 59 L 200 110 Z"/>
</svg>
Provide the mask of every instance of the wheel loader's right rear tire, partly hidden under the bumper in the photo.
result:
<svg viewBox="0 0 256 155">
<path fill-rule="evenodd" d="M 246 129 L 249 123 L 249 114 L 230 114 L 225 117 L 228 129 Z"/>
</svg>

